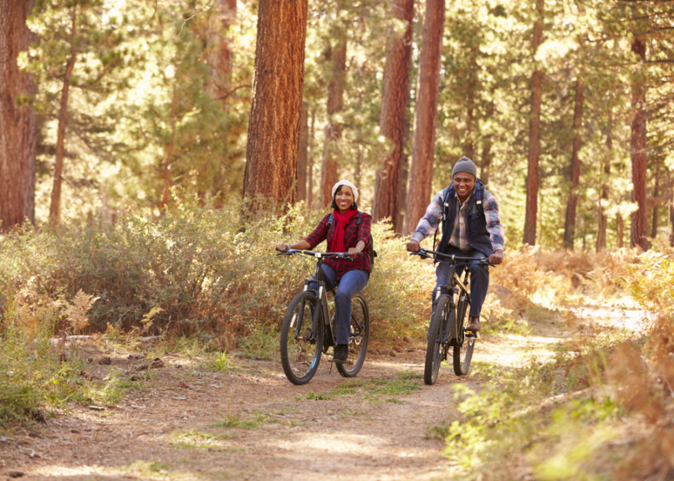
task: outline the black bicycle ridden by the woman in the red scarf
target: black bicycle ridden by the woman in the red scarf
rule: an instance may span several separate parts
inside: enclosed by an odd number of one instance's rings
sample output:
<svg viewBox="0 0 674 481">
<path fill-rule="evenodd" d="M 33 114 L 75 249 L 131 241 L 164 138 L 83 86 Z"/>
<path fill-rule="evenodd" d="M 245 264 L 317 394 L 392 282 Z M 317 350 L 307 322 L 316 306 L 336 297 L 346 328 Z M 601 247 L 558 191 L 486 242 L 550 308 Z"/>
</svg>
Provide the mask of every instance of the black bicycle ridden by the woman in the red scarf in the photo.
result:
<svg viewBox="0 0 674 481">
<path fill-rule="evenodd" d="M 334 314 L 331 315 L 327 292 L 334 296 L 337 286 L 327 285 L 321 266 L 329 257 L 350 259 L 347 253 L 321 253 L 313 250 L 287 249 L 279 255 L 305 255 L 316 259 L 315 279 L 305 279 L 304 289 L 292 298 L 281 325 L 281 363 L 283 372 L 293 384 L 308 383 L 320 363 L 321 354 L 336 346 Z M 358 253 L 362 255 L 362 253 Z M 315 288 L 309 289 L 309 284 Z M 309 305 L 307 316 L 306 306 Z M 325 335 L 327 332 L 327 335 Z M 336 363 L 338 372 L 346 378 L 354 377 L 365 362 L 370 335 L 370 316 L 365 297 L 360 293 L 351 299 L 351 328 L 349 353 L 356 354 L 353 363 Z"/>
</svg>

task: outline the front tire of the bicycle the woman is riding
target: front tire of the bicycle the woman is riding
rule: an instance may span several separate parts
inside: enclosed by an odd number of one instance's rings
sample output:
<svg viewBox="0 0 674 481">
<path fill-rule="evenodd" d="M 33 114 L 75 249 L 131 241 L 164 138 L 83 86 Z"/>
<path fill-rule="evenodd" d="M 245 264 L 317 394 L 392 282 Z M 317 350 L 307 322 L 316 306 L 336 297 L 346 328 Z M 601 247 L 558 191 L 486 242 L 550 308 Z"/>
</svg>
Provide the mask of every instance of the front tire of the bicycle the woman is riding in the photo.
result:
<svg viewBox="0 0 674 481">
<path fill-rule="evenodd" d="M 304 309 L 302 309 L 303 303 Z M 305 290 L 292 298 L 283 316 L 281 364 L 285 377 L 295 385 L 303 385 L 311 381 L 320 364 L 323 350 L 323 319 L 321 316 L 318 317 L 314 338 L 305 339 L 309 337 L 312 330 L 311 313 L 316 309 L 316 303 L 316 293 Z M 296 339 L 296 336 L 301 339 Z"/>
</svg>

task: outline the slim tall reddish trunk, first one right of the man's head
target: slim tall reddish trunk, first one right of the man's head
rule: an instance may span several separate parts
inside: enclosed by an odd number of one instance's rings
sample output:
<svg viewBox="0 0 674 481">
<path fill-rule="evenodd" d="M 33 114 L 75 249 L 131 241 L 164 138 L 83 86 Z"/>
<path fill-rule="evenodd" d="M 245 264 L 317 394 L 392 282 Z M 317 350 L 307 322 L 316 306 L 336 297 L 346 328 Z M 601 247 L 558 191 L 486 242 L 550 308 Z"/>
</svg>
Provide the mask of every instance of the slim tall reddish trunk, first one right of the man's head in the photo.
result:
<svg viewBox="0 0 674 481">
<path fill-rule="evenodd" d="M 545 2 L 536 0 L 536 21 L 532 41 L 533 58 L 543 42 Z M 536 67 L 531 76 L 531 118 L 529 122 L 529 164 L 527 172 L 527 206 L 524 218 L 524 244 L 536 244 L 536 220 L 539 210 L 539 156 L 541 155 L 541 95 L 543 72 Z"/>
</svg>

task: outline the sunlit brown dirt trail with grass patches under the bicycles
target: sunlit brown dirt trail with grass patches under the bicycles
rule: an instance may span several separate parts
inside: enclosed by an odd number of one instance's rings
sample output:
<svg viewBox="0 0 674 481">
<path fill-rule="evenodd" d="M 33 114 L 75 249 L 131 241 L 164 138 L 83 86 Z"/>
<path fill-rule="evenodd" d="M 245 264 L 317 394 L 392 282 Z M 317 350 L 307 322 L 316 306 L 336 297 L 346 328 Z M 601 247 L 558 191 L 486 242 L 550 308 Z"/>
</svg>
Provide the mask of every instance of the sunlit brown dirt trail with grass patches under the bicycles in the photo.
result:
<svg viewBox="0 0 674 481">
<path fill-rule="evenodd" d="M 641 317 L 591 306 L 576 314 L 595 327 L 636 328 Z M 164 353 L 163 367 L 146 371 L 142 389 L 127 390 L 116 405 L 96 411 L 71 404 L 42 427 L 0 436 L 0 479 L 451 478 L 456 468 L 439 433 L 457 406 L 455 385 L 479 391 L 481 366 L 544 359 L 571 334 L 563 321 L 530 328 L 524 336 L 484 334 L 473 374 L 458 377 L 446 365 L 433 386 L 423 382 L 420 343 L 371 345 L 350 381 L 324 356 L 304 386 L 288 382 L 278 361 L 232 356 L 232 365 L 215 370 L 203 356 Z M 403 352 L 391 356 L 393 347 Z M 100 345 L 81 349 L 111 358 L 87 366 L 94 379 L 115 370 L 130 376 L 148 362 Z"/>
</svg>

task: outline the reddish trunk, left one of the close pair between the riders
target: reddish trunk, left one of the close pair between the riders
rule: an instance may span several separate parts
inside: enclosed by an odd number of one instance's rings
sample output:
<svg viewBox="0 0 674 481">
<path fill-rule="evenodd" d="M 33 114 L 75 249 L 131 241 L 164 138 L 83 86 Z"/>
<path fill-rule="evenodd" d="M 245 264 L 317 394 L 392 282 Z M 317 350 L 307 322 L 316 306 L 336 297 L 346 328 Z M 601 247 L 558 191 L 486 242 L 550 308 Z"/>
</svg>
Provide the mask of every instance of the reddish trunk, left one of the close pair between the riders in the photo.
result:
<svg viewBox="0 0 674 481">
<path fill-rule="evenodd" d="M 397 224 L 400 212 L 400 168 L 405 143 L 405 115 L 409 97 L 409 70 L 412 56 L 412 19 L 414 0 L 391 2 L 393 17 L 402 20 L 407 28 L 402 36 L 392 36 L 386 50 L 384 89 L 379 128 L 382 136 L 391 140 L 393 151 L 384 159 L 384 167 L 376 174 L 373 222 L 390 217 L 393 231 L 400 232 Z"/>
</svg>

